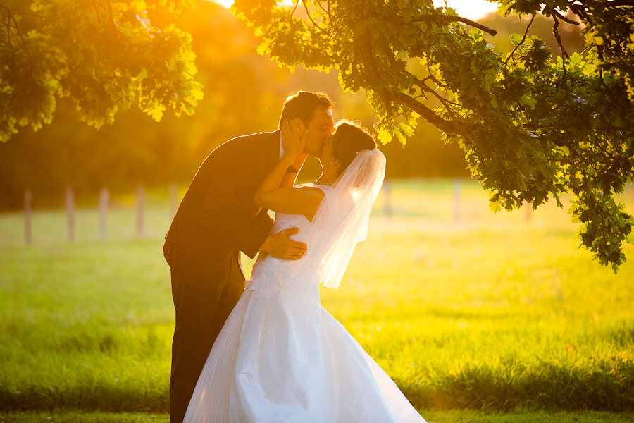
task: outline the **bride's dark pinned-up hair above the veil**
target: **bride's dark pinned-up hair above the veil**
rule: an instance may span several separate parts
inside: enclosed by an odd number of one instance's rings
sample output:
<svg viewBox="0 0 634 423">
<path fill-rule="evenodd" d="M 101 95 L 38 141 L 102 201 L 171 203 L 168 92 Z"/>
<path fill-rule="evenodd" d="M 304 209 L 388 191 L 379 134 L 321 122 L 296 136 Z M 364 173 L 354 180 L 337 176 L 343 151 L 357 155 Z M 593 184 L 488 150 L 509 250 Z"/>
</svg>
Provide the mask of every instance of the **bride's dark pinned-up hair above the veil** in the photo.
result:
<svg viewBox="0 0 634 423">
<path fill-rule="evenodd" d="M 347 168 L 359 152 L 378 147 L 370 131 L 359 122 L 342 119 L 335 127 L 337 130 L 332 135 L 332 155 L 339 160 L 342 169 Z"/>
</svg>

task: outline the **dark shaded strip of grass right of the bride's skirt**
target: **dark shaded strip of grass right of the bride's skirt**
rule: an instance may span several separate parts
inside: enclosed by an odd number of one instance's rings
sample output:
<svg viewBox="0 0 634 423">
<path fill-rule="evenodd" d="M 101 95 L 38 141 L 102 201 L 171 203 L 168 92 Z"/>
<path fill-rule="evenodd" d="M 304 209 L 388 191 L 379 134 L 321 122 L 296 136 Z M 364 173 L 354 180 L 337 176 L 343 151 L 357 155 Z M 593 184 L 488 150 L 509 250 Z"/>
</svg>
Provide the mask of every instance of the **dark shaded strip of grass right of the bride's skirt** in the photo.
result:
<svg viewBox="0 0 634 423">
<path fill-rule="evenodd" d="M 399 384 L 418 409 L 509 412 L 596 410 L 634 412 L 634 363 L 595 357 L 592 369 L 545 362 L 469 366 L 417 384 Z M 424 383 L 428 384 L 424 384 Z M 397 381 L 398 383 L 398 381 Z"/>
</svg>

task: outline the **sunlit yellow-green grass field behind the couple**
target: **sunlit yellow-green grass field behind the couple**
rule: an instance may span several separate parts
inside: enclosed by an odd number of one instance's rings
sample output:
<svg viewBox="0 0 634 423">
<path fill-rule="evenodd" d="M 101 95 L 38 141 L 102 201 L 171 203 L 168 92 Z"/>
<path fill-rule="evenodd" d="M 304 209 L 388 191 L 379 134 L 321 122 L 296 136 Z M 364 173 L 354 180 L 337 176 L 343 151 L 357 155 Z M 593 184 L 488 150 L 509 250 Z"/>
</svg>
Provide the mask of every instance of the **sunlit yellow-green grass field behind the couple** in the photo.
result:
<svg viewBox="0 0 634 423">
<path fill-rule="evenodd" d="M 464 182 L 454 219 L 453 189 L 392 183 L 392 217 L 381 195 L 324 307 L 431 422 L 634 421 L 634 247 L 615 275 L 554 204 L 492 214 Z M 35 213 L 31 246 L 23 216 L 0 215 L 0 422 L 166 421 L 170 217 L 150 194 L 142 239 L 131 198 L 106 240 L 96 207 L 72 243 L 61 211 Z M 633 188 L 621 197 L 632 212 Z"/>
</svg>

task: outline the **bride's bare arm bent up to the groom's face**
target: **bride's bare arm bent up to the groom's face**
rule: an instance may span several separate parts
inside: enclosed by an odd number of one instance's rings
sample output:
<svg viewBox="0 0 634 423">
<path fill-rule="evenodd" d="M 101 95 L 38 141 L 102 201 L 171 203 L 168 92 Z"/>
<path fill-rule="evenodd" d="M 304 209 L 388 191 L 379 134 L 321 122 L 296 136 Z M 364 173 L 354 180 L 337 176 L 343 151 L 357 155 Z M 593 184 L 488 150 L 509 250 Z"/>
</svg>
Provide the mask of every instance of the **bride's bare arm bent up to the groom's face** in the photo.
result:
<svg viewBox="0 0 634 423">
<path fill-rule="evenodd" d="M 304 125 L 299 126 L 299 129 L 304 129 Z M 307 138 L 308 131 L 304 131 L 300 138 L 296 128 L 293 128 L 290 123 L 284 124 L 282 128 L 284 154 L 256 190 L 254 197 L 256 204 L 280 213 L 305 214 L 306 216 L 315 214 L 323 199 L 323 191 L 315 187 L 292 188 L 296 175 L 292 173 L 292 176 L 289 176 L 286 172 L 289 166 L 298 162 L 298 159 L 303 164 L 306 157 L 302 159 L 300 155 L 304 154 Z"/>
</svg>

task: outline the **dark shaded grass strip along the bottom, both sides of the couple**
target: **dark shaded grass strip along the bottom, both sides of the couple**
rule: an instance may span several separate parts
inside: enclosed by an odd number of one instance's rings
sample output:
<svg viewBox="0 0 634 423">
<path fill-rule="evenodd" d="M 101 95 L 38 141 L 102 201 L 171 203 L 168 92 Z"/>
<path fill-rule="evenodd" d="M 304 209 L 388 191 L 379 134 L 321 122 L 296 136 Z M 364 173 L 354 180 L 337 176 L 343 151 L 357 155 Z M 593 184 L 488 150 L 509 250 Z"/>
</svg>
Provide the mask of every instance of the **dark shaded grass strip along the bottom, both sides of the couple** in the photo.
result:
<svg viewBox="0 0 634 423">
<path fill-rule="evenodd" d="M 536 360 L 468 365 L 457 372 L 437 373 L 433 379 L 421 374 L 397 384 L 417 409 L 634 412 L 633 362 L 595 358 L 588 369 L 585 364 Z M 0 411 L 169 410 L 168 389 L 163 384 L 139 387 L 110 379 L 95 383 L 86 376 L 56 386 L 29 384 L 19 389 L 0 386 Z"/>
</svg>

